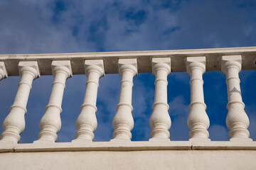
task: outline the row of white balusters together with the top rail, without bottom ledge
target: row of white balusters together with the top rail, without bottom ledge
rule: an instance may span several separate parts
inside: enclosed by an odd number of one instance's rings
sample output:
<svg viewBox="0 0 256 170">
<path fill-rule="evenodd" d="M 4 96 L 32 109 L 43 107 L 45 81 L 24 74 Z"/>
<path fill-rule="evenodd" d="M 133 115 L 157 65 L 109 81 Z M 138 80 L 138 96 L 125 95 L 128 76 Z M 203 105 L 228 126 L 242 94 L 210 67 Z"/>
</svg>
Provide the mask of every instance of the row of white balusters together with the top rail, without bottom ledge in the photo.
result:
<svg viewBox="0 0 256 170">
<path fill-rule="evenodd" d="M 245 104 L 242 102 L 239 72 L 242 67 L 247 70 L 255 69 L 255 61 L 256 47 L 68 55 L 1 55 L 0 80 L 7 76 L 20 75 L 21 81 L 18 84 L 14 104 L 3 123 L 0 152 L 1 149 L 20 146 L 17 143 L 20 141 L 21 132 L 25 129 L 26 106 L 33 80 L 40 75 L 51 74 L 54 77 L 52 91 L 46 106 L 46 113 L 39 125 L 41 132 L 38 134 L 38 140 L 34 141 L 35 145 L 33 146 L 35 147 L 56 145 L 54 142 L 57 140 L 57 133 L 61 128 L 60 113 L 62 112 L 65 81 L 73 74 L 86 74 L 87 82 L 80 115 L 76 121 L 75 140 L 71 142 L 70 146 L 82 145 L 83 142 L 87 142 L 85 145 L 88 145 L 94 140 L 94 132 L 97 128 L 97 91 L 100 77 L 103 77 L 105 73 L 119 73 L 121 77 L 119 103 L 112 122 L 114 132 L 111 141 L 127 142 L 125 143 L 127 145 L 132 139 L 131 131 L 134 127 L 132 87 L 133 78 L 138 72 L 152 72 L 155 76 L 153 112 L 149 120 L 151 127 L 149 141 L 156 141 L 158 144 L 170 140 L 171 118 L 167 103 L 167 77 L 171 72 L 187 72 L 191 77 L 191 103 L 187 120 L 190 129 L 189 140 L 192 141 L 192 144 L 210 141 L 208 132 L 210 121 L 206 113 L 203 95 L 203 74 L 206 71 L 220 70 L 226 76 L 228 89 L 226 124 L 230 130 L 230 141 L 252 141 L 250 132 L 247 130 L 249 118 L 245 113 Z M 73 69 L 71 69 L 71 63 Z M 38 65 L 41 67 L 40 72 Z M 149 142 L 151 146 L 156 144 Z M 111 143 L 106 146 L 112 145 L 116 144 Z"/>
</svg>

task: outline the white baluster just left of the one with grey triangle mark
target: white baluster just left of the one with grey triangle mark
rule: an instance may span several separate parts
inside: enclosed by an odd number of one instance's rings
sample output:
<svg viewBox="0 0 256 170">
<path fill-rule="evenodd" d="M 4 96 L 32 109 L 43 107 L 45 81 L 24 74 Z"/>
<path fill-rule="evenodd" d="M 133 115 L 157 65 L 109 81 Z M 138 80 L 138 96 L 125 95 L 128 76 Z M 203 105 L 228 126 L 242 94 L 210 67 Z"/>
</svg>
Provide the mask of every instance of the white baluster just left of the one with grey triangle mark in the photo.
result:
<svg viewBox="0 0 256 170">
<path fill-rule="evenodd" d="M 208 140 L 210 121 L 203 98 L 203 73 L 206 72 L 206 57 L 187 57 L 187 73 L 191 76 L 191 104 L 188 115 L 189 140 Z"/>
</svg>

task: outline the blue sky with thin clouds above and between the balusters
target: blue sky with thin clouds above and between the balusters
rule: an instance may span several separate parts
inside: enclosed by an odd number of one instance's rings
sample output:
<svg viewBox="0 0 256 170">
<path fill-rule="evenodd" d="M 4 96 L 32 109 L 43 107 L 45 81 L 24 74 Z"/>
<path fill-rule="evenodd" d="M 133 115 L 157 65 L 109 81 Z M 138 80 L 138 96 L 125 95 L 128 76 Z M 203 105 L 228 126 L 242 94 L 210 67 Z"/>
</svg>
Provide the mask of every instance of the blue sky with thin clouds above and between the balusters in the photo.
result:
<svg viewBox="0 0 256 170">
<path fill-rule="evenodd" d="M 0 1 L 0 54 L 53 52 L 111 52 L 179 50 L 256 46 L 256 1 Z M 255 70 L 240 73 L 242 98 L 250 118 L 250 135 L 256 139 Z M 0 124 L 14 101 L 19 77 L 0 81 Z M 225 75 L 203 75 L 210 139 L 228 140 Z M 112 138 L 112 119 L 119 98 L 118 74 L 100 79 L 95 141 Z M 168 77 L 171 140 L 188 140 L 189 76 Z M 21 142 L 37 140 L 39 121 L 50 97 L 53 77 L 33 81 L 28 100 L 26 129 Z M 66 81 L 62 128 L 58 142 L 75 137 L 75 120 L 85 93 L 85 75 Z M 149 118 L 154 103 L 154 75 L 134 77 L 132 140 L 149 140 Z M 2 130 L 0 130 L 2 132 Z"/>
</svg>

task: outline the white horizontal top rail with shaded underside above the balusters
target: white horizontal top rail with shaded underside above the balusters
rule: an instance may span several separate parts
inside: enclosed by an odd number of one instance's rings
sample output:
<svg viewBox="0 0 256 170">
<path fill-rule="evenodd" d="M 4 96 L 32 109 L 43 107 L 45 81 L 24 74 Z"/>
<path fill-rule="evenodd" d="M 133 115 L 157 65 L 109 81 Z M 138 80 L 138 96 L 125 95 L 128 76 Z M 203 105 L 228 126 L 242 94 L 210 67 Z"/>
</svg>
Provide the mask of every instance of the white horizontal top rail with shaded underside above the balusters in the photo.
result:
<svg viewBox="0 0 256 170">
<path fill-rule="evenodd" d="M 103 60 L 105 74 L 118 74 L 118 60 L 136 58 L 139 73 L 152 72 L 152 57 L 171 57 L 171 72 L 186 72 L 186 57 L 206 57 L 206 71 L 220 71 L 222 55 L 241 55 L 242 69 L 256 69 L 256 47 L 130 52 L 81 52 L 29 55 L 0 55 L 9 76 L 18 76 L 18 62 L 37 61 L 41 75 L 51 75 L 53 60 L 70 60 L 73 74 L 84 74 L 84 60 Z"/>
</svg>

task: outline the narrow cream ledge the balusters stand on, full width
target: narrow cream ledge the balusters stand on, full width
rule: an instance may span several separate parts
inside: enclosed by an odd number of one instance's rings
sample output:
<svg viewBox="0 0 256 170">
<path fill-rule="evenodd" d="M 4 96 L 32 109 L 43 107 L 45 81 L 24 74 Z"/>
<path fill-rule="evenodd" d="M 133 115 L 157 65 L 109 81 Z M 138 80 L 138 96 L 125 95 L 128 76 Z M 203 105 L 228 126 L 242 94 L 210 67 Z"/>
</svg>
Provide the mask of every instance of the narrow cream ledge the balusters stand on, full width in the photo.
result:
<svg viewBox="0 0 256 170">
<path fill-rule="evenodd" d="M 1 152 L 146 151 L 146 150 L 256 150 L 256 142 L 63 142 L 0 145 Z"/>
</svg>

